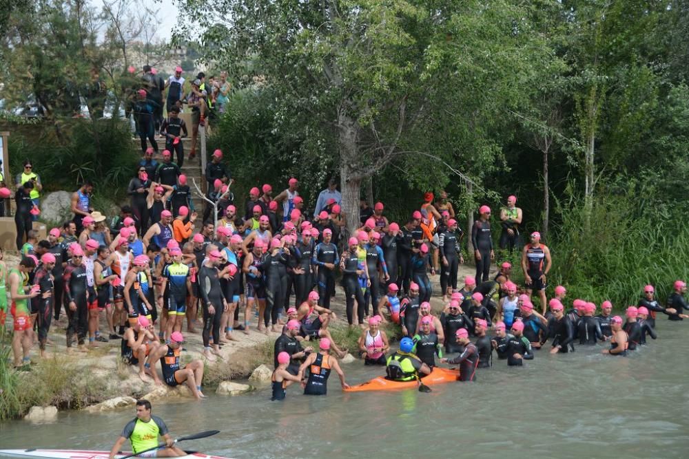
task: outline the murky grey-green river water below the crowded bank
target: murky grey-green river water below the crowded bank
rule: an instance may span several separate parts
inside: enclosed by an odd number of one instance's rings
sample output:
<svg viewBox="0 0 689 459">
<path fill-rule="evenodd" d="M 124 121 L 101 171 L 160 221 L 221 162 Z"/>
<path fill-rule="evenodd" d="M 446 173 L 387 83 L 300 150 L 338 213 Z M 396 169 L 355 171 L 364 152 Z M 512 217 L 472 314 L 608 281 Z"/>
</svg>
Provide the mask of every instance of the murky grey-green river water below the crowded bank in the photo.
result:
<svg viewBox="0 0 689 459">
<path fill-rule="evenodd" d="M 270 402 L 265 386 L 245 396 L 207 392 L 200 403 L 156 403 L 173 436 L 220 434 L 186 449 L 257 458 L 686 458 L 689 456 L 689 323 L 658 323 L 660 338 L 628 358 L 577 346 L 538 351 L 524 367 L 493 361 L 475 383 L 433 386 L 430 394 L 343 394 L 338 378 L 325 397 Z M 382 372 L 345 365 L 348 383 Z M 2 448 L 110 449 L 134 409 L 63 412 L 55 423 L 19 420 L 0 427 Z"/>
</svg>

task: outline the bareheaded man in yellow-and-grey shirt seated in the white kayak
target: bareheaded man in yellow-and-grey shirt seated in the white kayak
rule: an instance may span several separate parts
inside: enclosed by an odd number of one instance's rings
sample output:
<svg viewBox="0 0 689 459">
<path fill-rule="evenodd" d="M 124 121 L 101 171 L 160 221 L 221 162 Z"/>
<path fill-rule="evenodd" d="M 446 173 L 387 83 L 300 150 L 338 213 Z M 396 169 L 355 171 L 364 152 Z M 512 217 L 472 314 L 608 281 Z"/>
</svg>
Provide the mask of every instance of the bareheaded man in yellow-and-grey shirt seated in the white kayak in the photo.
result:
<svg viewBox="0 0 689 459">
<path fill-rule="evenodd" d="M 165 421 L 158 416 L 151 415 L 151 403 L 147 400 L 136 401 L 136 418 L 130 420 L 110 450 L 110 459 L 122 449 L 125 441 L 132 442 L 132 451 L 146 451 L 158 446 L 158 437 L 165 440 L 165 446 L 153 451 L 138 454 L 141 458 L 176 458 L 187 456 L 187 453 L 174 445 L 174 439 L 169 436 Z"/>
</svg>

